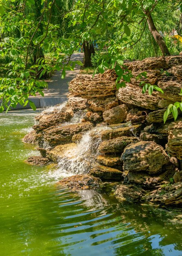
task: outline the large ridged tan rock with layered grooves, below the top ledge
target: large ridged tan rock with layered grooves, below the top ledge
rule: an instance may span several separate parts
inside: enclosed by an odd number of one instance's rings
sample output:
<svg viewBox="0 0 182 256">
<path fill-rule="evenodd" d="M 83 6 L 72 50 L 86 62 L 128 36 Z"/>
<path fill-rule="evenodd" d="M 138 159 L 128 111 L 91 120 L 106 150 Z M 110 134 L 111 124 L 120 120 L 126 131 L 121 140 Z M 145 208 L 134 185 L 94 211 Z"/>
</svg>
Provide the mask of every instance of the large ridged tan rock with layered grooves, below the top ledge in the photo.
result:
<svg viewBox="0 0 182 256">
<path fill-rule="evenodd" d="M 158 92 L 153 92 L 151 95 L 148 93 L 143 94 L 141 87 L 137 87 L 131 83 L 127 83 L 125 88 L 119 88 L 119 90 L 116 91 L 116 97 L 123 103 L 133 104 L 150 110 L 158 109 L 160 99 Z"/>
</svg>

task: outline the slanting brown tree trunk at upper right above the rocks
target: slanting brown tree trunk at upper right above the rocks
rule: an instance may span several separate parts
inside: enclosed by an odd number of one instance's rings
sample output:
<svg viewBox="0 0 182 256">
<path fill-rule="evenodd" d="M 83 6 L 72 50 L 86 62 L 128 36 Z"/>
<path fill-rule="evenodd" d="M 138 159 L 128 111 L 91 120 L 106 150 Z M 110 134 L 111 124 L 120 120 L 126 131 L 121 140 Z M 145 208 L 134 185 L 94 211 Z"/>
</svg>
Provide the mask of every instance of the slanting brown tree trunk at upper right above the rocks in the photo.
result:
<svg viewBox="0 0 182 256">
<path fill-rule="evenodd" d="M 166 45 L 164 39 L 162 38 L 162 36 L 160 35 L 160 33 L 156 29 L 156 26 L 153 22 L 151 13 L 149 12 L 149 9 L 147 9 L 147 10 L 144 9 L 144 12 L 147 15 L 147 23 L 148 23 L 148 26 L 149 26 L 149 30 L 150 30 L 152 36 L 154 37 L 154 39 L 156 40 L 156 43 L 159 45 L 163 56 L 171 55 L 168 48 L 167 48 L 167 45 Z"/>
</svg>

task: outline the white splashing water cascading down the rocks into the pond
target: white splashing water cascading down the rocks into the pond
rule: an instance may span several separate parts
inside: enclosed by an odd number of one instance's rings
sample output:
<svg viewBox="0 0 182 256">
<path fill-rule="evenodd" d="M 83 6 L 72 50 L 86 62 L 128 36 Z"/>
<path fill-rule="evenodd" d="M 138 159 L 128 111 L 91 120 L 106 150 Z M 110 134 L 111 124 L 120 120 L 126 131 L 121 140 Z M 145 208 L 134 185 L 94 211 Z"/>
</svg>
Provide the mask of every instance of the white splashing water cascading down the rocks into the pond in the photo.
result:
<svg viewBox="0 0 182 256">
<path fill-rule="evenodd" d="M 61 176 L 88 173 L 95 165 L 95 157 L 99 155 L 98 147 L 101 143 L 101 131 L 108 130 L 107 126 L 95 127 L 86 132 L 81 141 L 75 144 L 71 151 L 67 150 L 59 160 Z"/>
</svg>

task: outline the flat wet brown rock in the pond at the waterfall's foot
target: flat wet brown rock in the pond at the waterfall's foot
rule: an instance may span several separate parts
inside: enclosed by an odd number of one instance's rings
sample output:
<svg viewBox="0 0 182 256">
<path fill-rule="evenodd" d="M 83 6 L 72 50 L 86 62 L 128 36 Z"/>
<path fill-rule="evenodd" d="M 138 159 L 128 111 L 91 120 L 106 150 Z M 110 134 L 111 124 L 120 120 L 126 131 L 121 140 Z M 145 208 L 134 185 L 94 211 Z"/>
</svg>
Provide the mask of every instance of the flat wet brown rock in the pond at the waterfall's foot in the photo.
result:
<svg viewBox="0 0 182 256">
<path fill-rule="evenodd" d="M 101 180 L 90 175 L 73 175 L 58 182 L 72 190 L 100 189 Z"/>
</svg>

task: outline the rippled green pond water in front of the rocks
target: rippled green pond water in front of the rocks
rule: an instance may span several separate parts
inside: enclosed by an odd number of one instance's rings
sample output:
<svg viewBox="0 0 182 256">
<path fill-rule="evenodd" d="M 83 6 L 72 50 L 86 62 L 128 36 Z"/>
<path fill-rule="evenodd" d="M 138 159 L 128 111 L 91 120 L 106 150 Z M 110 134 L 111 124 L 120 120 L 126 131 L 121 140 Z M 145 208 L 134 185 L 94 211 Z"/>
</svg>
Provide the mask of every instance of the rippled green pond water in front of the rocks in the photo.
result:
<svg viewBox="0 0 182 256">
<path fill-rule="evenodd" d="M 56 186 L 56 167 L 24 162 L 35 114 L 17 113 L 0 115 L 0 256 L 182 256 L 180 210 Z"/>
</svg>

